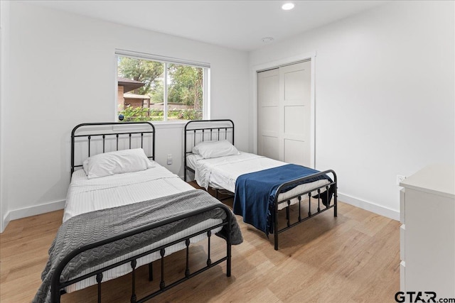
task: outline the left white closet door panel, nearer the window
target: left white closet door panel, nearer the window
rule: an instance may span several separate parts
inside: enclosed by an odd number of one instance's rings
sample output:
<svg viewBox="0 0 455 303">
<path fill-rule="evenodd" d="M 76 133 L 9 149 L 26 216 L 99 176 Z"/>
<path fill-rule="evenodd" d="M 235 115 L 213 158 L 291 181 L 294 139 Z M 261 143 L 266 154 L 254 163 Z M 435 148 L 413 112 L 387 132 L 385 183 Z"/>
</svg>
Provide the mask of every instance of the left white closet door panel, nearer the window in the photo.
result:
<svg viewBox="0 0 455 303">
<path fill-rule="evenodd" d="M 279 70 L 257 73 L 257 153 L 279 160 Z"/>
</svg>

